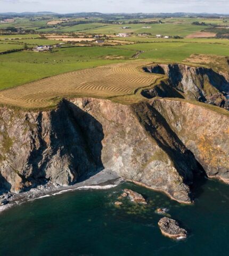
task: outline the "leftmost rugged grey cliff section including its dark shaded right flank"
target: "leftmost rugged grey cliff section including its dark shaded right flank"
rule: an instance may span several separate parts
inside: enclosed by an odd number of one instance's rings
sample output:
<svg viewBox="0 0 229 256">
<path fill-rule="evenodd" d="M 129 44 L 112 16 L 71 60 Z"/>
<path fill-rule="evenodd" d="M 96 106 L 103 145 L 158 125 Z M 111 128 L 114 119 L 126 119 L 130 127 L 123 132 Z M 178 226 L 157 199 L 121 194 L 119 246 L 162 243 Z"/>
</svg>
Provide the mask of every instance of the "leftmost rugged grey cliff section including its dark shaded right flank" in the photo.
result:
<svg viewBox="0 0 229 256">
<path fill-rule="evenodd" d="M 18 193 L 48 180 L 70 185 L 101 167 L 64 103 L 43 112 L 4 107 L 0 115 L 2 190 Z"/>
</svg>

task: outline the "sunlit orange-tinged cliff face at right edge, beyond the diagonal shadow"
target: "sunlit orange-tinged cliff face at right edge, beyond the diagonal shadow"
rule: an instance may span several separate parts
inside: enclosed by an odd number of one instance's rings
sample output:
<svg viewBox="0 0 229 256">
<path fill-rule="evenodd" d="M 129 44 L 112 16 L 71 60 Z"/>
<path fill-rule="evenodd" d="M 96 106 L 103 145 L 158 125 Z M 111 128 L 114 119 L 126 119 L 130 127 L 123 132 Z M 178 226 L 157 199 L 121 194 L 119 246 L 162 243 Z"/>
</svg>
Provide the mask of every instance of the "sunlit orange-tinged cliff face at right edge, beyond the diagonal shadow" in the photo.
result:
<svg viewBox="0 0 229 256">
<path fill-rule="evenodd" d="M 166 119 L 209 177 L 229 182 L 229 115 L 176 100 L 154 100 L 152 107 Z"/>
</svg>

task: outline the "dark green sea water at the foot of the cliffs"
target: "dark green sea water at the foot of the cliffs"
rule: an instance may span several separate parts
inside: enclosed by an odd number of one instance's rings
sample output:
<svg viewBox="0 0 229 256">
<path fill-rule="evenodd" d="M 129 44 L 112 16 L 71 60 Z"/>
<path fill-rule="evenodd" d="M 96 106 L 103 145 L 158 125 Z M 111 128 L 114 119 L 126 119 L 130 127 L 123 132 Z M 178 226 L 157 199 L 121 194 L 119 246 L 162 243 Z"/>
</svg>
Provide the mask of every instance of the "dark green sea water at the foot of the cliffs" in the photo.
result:
<svg viewBox="0 0 229 256">
<path fill-rule="evenodd" d="M 113 202 L 122 188 L 142 193 L 146 207 Z M 206 181 L 195 205 L 132 184 L 37 199 L 0 215 L 0 255 L 228 255 L 229 186 Z M 157 207 L 189 230 L 189 238 L 163 237 Z"/>
</svg>

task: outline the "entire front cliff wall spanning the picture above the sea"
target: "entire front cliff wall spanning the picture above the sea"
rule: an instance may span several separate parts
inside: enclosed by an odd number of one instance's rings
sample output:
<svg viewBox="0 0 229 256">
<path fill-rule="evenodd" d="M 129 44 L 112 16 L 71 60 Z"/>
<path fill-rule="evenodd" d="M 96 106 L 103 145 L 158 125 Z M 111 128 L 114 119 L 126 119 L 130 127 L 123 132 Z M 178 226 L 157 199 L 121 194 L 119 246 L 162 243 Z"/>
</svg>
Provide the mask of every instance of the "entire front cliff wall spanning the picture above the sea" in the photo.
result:
<svg viewBox="0 0 229 256">
<path fill-rule="evenodd" d="M 106 168 L 190 203 L 200 164 L 209 176 L 229 179 L 228 116 L 167 101 L 78 98 L 48 111 L 0 108 L 2 192 L 71 185 Z"/>
</svg>

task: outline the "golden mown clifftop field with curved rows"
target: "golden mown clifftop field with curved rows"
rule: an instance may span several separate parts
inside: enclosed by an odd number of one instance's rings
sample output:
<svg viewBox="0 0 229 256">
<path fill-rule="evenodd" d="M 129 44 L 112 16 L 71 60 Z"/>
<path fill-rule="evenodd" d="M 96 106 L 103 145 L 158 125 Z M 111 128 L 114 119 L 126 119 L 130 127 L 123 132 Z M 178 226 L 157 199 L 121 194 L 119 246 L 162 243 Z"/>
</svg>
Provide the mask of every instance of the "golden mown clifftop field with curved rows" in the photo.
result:
<svg viewBox="0 0 229 256">
<path fill-rule="evenodd" d="M 132 61 L 73 71 L 0 92 L 0 103 L 24 108 L 50 107 L 57 97 L 115 97 L 154 84 L 158 76 L 141 69 L 150 62 Z"/>
</svg>

